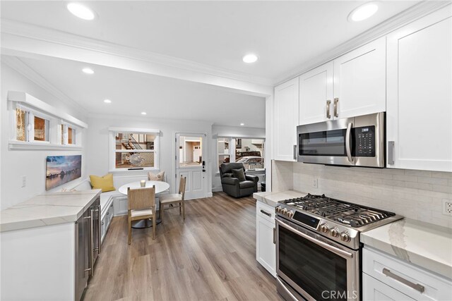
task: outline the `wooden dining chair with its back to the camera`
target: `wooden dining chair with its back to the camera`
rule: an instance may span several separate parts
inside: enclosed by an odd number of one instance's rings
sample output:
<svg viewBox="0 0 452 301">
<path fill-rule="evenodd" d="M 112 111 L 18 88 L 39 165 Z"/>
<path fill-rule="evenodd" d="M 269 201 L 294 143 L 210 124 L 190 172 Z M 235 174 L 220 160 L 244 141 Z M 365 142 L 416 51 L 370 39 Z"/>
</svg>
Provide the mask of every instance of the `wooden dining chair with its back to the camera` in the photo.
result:
<svg viewBox="0 0 452 301">
<path fill-rule="evenodd" d="M 153 240 L 155 240 L 155 186 L 152 188 L 127 188 L 129 245 L 132 242 L 132 221 L 153 220 Z"/>
</svg>

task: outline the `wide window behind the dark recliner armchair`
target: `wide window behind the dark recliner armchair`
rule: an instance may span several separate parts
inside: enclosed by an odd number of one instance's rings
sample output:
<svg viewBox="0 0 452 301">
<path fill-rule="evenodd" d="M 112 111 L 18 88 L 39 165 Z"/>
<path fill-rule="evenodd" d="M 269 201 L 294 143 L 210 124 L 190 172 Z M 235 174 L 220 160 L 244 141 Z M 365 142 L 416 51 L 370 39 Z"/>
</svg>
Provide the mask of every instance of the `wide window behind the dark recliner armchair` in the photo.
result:
<svg viewBox="0 0 452 301">
<path fill-rule="evenodd" d="M 222 163 L 241 162 L 246 170 L 264 168 L 263 139 L 218 138 L 218 166 Z"/>
</svg>

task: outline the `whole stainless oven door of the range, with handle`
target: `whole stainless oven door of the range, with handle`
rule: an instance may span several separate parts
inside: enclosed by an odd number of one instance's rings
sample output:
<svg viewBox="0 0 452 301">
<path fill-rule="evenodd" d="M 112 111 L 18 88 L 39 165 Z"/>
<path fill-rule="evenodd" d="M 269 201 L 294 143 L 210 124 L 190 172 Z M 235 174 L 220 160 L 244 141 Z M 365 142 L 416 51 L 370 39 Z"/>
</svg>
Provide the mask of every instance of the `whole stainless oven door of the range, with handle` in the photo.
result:
<svg viewBox="0 0 452 301">
<path fill-rule="evenodd" d="M 359 300 L 359 250 L 280 219 L 276 270 L 281 295 L 294 300 Z"/>
</svg>

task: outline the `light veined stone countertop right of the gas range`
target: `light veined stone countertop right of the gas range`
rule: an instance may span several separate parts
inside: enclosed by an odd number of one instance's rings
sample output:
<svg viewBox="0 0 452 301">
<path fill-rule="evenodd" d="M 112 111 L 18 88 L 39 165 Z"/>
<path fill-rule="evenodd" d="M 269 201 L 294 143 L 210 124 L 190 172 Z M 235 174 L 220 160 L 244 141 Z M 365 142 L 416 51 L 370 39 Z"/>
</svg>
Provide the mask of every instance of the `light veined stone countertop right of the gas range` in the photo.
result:
<svg viewBox="0 0 452 301">
<path fill-rule="evenodd" d="M 452 279 L 452 229 L 401 219 L 361 233 L 364 245 Z"/>
</svg>

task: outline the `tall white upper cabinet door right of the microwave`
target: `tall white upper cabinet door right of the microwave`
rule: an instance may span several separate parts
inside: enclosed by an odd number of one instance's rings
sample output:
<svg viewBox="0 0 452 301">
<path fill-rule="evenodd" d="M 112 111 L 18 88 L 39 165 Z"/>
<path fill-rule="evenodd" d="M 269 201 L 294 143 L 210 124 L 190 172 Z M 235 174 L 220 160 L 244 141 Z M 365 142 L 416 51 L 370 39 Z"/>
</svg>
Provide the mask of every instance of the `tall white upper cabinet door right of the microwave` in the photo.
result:
<svg viewBox="0 0 452 301">
<path fill-rule="evenodd" d="M 388 35 L 388 167 L 452 171 L 451 28 L 447 6 Z"/>
</svg>

